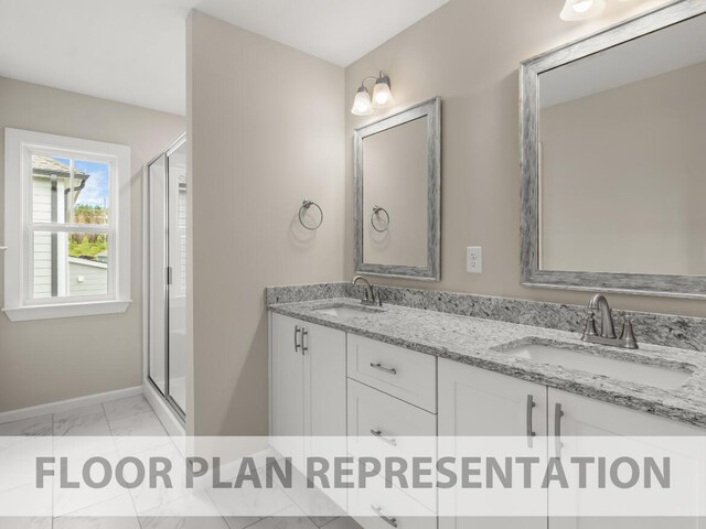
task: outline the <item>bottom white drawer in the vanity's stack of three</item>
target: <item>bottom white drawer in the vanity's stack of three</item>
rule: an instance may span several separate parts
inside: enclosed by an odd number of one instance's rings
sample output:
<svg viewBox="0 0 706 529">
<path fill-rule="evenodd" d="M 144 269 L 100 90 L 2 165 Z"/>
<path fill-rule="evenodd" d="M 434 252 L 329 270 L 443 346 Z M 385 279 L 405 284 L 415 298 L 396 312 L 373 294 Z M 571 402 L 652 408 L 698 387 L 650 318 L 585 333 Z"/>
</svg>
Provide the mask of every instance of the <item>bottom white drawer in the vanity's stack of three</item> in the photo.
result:
<svg viewBox="0 0 706 529">
<path fill-rule="evenodd" d="M 349 512 L 365 529 L 436 529 L 436 516 L 381 476 L 349 490 Z"/>
</svg>

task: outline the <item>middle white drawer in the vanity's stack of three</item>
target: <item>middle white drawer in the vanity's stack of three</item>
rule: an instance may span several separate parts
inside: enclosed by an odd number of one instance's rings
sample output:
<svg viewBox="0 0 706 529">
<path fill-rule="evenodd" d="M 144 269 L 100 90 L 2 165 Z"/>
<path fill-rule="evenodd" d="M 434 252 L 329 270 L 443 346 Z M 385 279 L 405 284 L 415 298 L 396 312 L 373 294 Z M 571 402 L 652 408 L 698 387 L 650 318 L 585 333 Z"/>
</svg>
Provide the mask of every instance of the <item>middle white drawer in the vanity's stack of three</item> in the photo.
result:
<svg viewBox="0 0 706 529">
<path fill-rule="evenodd" d="M 435 461 L 436 432 L 435 414 L 349 379 L 351 455 L 375 457 L 383 465 L 387 457 L 404 457 L 408 462 L 413 457 Z M 435 471 L 429 481 L 436 481 Z M 406 494 L 436 512 L 436 489 L 410 488 Z"/>
</svg>

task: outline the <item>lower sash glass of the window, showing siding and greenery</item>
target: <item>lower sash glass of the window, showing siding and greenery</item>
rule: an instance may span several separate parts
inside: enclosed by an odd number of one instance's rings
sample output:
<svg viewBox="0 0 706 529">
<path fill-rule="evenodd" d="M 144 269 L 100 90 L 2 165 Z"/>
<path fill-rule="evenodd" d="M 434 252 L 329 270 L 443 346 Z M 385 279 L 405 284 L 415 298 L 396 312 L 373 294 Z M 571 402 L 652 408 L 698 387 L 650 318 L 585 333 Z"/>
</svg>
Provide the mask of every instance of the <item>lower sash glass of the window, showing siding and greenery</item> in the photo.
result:
<svg viewBox="0 0 706 529">
<path fill-rule="evenodd" d="M 34 234 L 34 299 L 107 295 L 107 234 Z"/>
</svg>

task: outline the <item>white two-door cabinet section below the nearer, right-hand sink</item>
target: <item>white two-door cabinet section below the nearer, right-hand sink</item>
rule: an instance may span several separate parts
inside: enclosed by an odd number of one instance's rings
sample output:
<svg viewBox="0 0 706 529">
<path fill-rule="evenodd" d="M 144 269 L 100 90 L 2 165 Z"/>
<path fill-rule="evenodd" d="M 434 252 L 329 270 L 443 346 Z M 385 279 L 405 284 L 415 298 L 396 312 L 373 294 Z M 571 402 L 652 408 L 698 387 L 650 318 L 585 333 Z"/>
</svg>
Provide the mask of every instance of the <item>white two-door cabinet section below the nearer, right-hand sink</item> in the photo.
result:
<svg viewBox="0 0 706 529">
<path fill-rule="evenodd" d="M 534 406 L 533 406 L 534 404 Z M 533 432 L 536 436 L 531 442 Z M 484 369 L 439 360 L 439 436 L 514 435 L 527 439 L 527 454 L 553 457 L 557 451 L 580 452 L 581 443 L 595 436 L 693 436 L 704 435 L 697 428 L 681 424 L 648 413 L 630 410 L 527 382 Z M 546 436 L 546 443 L 538 436 Z M 630 441 L 632 442 L 632 440 Z M 640 442 L 640 441 L 635 441 Z M 651 438 L 645 443 L 654 446 Z M 632 446 L 632 445 L 630 445 Z M 639 446 L 635 446 L 635 453 Z M 628 455 L 633 452 L 627 450 Z M 527 455 L 522 454 L 522 455 Z M 703 461 L 703 460 L 702 460 Z M 705 493 L 698 483 L 696 466 L 694 501 Z M 464 500 L 456 490 L 439 494 L 439 506 L 447 510 Z M 531 494 L 531 493 L 528 493 Z M 581 512 L 581 498 L 576 489 L 549 489 L 533 501 L 547 505 L 546 517 L 525 519 L 440 518 L 440 529 L 532 528 L 532 529 L 704 529 L 704 521 L 689 518 L 589 518 L 552 517 L 552 506 L 570 506 Z"/>
</svg>

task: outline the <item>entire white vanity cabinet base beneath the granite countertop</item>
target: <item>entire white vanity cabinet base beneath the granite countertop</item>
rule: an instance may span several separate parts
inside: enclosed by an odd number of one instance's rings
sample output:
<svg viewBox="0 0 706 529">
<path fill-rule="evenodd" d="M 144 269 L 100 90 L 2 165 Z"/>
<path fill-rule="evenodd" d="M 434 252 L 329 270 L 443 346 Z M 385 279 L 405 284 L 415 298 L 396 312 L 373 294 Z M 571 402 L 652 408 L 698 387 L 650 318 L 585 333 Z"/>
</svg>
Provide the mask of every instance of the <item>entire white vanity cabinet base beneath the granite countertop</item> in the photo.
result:
<svg viewBox="0 0 706 529">
<path fill-rule="evenodd" d="M 511 449 L 494 441 L 491 450 L 499 457 L 512 452 L 546 462 L 558 450 L 565 457 L 575 449 L 580 453 L 581 443 L 591 443 L 595 436 L 705 435 L 702 429 L 542 384 L 293 317 L 274 313 L 269 317 L 272 446 L 291 456 L 299 468 L 303 468 L 307 455 L 344 453 L 381 458 L 453 453 L 461 461 L 469 455 L 462 438 L 512 438 L 515 444 Z M 321 436 L 340 436 L 341 441 L 321 443 Z M 410 436 L 432 441 L 418 445 Z M 654 438 L 645 442 L 649 446 L 660 444 Z M 697 449 L 706 453 L 706 447 Z M 634 452 L 640 452 L 640 445 Z M 706 495 L 706 483 L 698 475 L 696 460 L 693 467 L 694 487 L 686 496 L 697 501 Z M 382 479 L 377 476 L 374 481 Z M 489 506 L 493 514 L 509 505 L 501 501 L 495 507 L 498 499 L 483 497 L 480 489 L 469 496 L 462 488 L 430 492 L 392 485 L 347 494 L 334 489 L 327 495 L 343 508 L 347 505 L 356 512 L 356 520 L 372 529 L 706 529 L 704 521 L 689 518 L 561 518 L 555 516 L 554 507 L 588 512 L 586 496 L 575 489 L 537 487 L 521 498 L 523 512 L 530 506 L 532 517 L 437 519 L 439 511 L 462 510 L 468 505 Z M 516 501 L 517 497 L 514 505 Z M 410 512 L 420 516 L 408 516 Z"/>
</svg>

